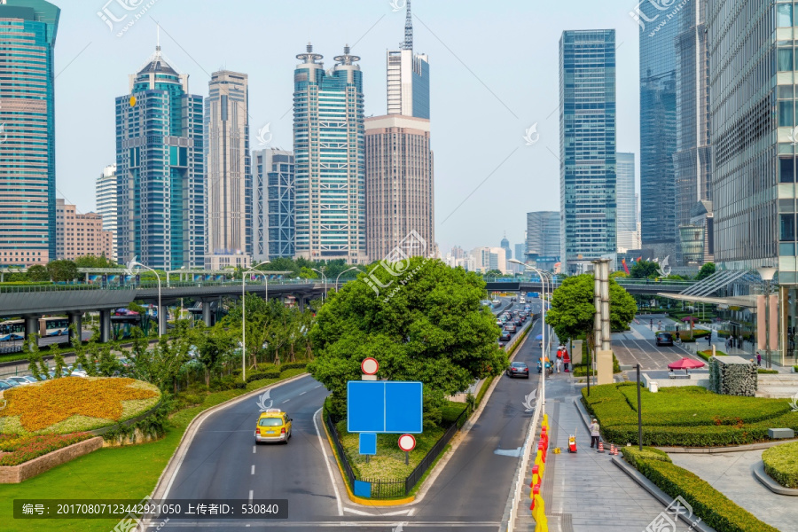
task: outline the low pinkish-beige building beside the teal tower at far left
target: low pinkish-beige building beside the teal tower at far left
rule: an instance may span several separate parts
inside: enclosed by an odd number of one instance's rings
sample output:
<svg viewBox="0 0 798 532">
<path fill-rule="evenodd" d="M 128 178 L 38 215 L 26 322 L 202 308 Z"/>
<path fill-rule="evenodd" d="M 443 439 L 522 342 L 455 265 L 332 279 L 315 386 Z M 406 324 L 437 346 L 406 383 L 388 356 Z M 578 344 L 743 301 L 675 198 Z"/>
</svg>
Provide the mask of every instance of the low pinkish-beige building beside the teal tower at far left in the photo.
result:
<svg viewBox="0 0 798 532">
<path fill-rule="evenodd" d="M 78 214 L 74 205 L 56 200 L 56 258 L 74 260 L 94 255 L 110 259 L 113 234 L 103 230 L 103 217 L 96 213 Z"/>
</svg>

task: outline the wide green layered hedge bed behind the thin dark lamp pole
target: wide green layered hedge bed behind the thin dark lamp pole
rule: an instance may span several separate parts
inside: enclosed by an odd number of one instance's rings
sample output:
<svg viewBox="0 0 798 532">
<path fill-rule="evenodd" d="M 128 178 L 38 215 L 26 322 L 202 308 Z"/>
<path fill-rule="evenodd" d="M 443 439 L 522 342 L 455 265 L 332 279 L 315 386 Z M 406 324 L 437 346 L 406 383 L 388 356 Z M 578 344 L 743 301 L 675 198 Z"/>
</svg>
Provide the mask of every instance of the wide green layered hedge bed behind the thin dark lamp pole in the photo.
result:
<svg viewBox="0 0 798 532">
<path fill-rule="evenodd" d="M 716 447 L 769 441 L 768 429 L 798 430 L 798 412 L 784 399 L 716 395 L 703 387 L 641 390 L 643 444 Z M 638 443 L 638 397 L 634 382 L 582 390 L 583 403 L 599 419 L 607 442 Z"/>
</svg>

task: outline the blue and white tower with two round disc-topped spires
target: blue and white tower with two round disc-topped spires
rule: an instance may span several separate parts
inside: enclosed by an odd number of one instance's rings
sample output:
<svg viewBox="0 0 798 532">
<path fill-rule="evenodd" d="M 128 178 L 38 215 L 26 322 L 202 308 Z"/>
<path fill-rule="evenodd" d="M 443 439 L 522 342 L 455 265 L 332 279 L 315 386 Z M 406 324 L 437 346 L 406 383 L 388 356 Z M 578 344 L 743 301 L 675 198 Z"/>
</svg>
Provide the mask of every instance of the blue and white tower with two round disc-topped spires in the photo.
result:
<svg viewBox="0 0 798 532">
<path fill-rule="evenodd" d="M 296 256 L 367 262 L 363 73 L 349 54 L 325 72 L 308 44 L 293 73 Z"/>
</svg>

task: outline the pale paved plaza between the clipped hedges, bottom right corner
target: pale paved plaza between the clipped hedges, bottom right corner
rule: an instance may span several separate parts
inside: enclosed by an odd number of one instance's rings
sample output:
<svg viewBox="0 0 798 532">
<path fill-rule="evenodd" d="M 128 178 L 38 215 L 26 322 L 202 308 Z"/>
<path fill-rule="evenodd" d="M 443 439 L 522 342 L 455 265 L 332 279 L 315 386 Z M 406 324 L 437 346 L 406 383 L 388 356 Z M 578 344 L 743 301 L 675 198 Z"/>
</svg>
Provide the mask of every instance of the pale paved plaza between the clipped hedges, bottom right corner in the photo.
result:
<svg viewBox="0 0 798 532">
<path fill-rule="evenodd" d="M 673 463 L 692 471 L 713 488 L 769 525 L 787 532 L 798 530 L 798 500 L 778 495 L 757 481 L 753 467 L 762 461 L 763 450 L 712 455 L 675 453 Z"/>
</svg>

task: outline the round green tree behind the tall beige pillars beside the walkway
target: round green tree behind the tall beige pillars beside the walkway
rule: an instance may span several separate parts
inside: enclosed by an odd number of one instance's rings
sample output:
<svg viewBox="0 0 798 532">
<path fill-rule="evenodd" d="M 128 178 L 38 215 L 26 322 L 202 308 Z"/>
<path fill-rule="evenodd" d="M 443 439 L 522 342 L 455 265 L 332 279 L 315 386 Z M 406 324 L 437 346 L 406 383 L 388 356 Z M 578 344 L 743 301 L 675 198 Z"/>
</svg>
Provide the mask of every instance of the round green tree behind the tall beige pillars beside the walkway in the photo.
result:
<svg viewBox="0 0 798 532">
<path fill-rule="evenodd" d="M 593 347 L 594 279 L 586 273 L 563 280 L 552 294 L 552 308 L 546 311 L 546 323 L 552 325 L 560 341 L 587 335 Z M 626 331 L 635 318 L 638 306 L 634 298 L 614 279 L 609 281 L 610 327 Z"/>
</svg>

